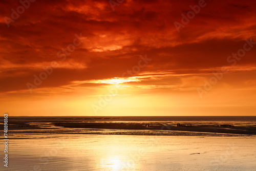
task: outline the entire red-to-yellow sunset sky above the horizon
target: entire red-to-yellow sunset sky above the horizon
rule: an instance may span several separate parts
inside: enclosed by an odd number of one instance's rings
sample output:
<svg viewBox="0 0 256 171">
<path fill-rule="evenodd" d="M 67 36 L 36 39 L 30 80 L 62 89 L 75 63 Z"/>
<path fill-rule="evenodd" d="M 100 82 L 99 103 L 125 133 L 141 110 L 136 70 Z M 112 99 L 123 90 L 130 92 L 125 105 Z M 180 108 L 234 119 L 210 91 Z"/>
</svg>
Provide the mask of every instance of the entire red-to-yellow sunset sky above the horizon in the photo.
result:
<svg viewBox="0 0 256 171">
<path fill-rule="evenodd" d="M 0 113 L 256 115 L 256 2 L 0 2 Z"/>
</svg>

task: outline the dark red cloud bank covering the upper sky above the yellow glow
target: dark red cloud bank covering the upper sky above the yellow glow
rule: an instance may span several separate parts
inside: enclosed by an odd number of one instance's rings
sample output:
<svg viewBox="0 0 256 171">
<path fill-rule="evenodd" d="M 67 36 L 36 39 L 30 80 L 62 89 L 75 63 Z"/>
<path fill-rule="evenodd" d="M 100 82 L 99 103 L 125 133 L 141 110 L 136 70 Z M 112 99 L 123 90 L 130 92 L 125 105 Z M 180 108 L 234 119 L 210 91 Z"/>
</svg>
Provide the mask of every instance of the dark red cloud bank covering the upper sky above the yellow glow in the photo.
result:
<svg viewBox="0 0 256 171">
<path fill-rule="evenodd" d="M 144 54 L 152 61 L 136 75 L 140 88 L 164 88 L 178 82 L 193 87 L 194 79 L 229 67 L 227 57 L 243 47 L 244 39 L 255 37 L 256 31 L 256 2 L 211 1 L 178 33 L 173 23 L 180 22 L 181 14 L 197 3 L 125 1 L 115 11 L 103 0 L 31 3 L 9 28 L 0 21 L 0 91 L 26 90 L 26 83 L 33 82 L 33 76 L 53 60 L 60 66 L 40 88 L 121 78 Z M 1 18 L 10 17 L 11 9 L 20 5 L 14 0 L 0 4 Z M 61 62 L 56 53 L 79 33 L 87 39 Z M 255 54 L 253 48 L 232 72 L 254 70 Z M 155 80 L 142 77 L 144 73 L 155 75 Z"/>
</svg>

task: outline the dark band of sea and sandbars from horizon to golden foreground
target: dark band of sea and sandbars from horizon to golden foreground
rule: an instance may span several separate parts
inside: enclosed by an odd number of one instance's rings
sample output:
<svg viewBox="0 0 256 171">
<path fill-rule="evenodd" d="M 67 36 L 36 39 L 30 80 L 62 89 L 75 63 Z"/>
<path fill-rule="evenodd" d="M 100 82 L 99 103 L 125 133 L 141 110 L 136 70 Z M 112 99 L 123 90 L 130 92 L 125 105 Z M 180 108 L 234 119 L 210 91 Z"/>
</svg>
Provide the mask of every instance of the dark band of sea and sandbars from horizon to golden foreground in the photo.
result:
<svg viewBox="0 0 256 171">
<path fill-rule="evenodd" d="M 253 136 L 256 117 L 13 117 L 9 128 L 11 138 L 23 134 Z"/>
</svg>

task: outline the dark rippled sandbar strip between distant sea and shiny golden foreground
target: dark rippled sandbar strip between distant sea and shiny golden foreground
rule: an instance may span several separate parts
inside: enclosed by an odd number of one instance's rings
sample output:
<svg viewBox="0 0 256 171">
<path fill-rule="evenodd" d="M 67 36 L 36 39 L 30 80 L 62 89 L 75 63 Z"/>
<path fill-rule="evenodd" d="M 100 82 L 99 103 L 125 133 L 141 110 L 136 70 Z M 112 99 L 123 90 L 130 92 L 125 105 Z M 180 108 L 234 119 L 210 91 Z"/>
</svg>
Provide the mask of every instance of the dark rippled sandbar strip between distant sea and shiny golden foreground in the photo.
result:
<svg viewBox="0 0 256 171">
<path fill-rule="evenodd" d="M 150 124 L 150 126 L 145 126 L 146 124 Z M 196 136 L 204 136 L 206 135 L 214 135 L 214 134 L 223 134 L 223 135 L 256 135 L 256 126 L 230 126 L 227 127 L 221 124 L 207 124 L 207 125 L 199 125 L 199 124 L 186 124 L 187 126 L 177 126 L 177 124 L 166 124 L 159 122 L 144 122 L 144 123 L 136 123 L 136 122 L 12 122 L 9 121 L 9 130 L 10 133 L 18 133 L 17 131 L 24 131 L 28 133 L 30 130 L 35 130 L 37 133 L 78 133 L 78 134 L 99 134 L 98 130 L 107 130 L 105 134 L 109 134 L 112 130 L 112 134 L 121 134 L 120 132 L 129 133 L 136 132 L 138 135 L 142 135 L 144 132 L 145 135 L 153 135 L 158 134 L 157 131 L 168 131 L 169 135 L 196 135 Z M 58 130 L 61 129 L 61 130 Z M 64 131 L 66 129 L 66 131 Z M 46 131 L 47 130 L 47 131 Z M 89 132 L 88 130 L 91 130 Z M 94 130 L 94 131 L 93 131 Z M 119 130 L 120 132 L 118 132 Z M 155 131 L 152 133 L 150 131 Z M 171 132 L 173 134 L 171 134 Z M 19 132 L 20 133 L 20 132 Z M 176 133 L 176 134 L 174 134 Z M 200 134 L 199 134 L 200 133 Z M 210 134 L 209 134 L 210 133 Z M 104 134 L 102 131 L 100 134 Z M 129 134 L 128 134 L 129 135 Z M 162 132 L 161 135 L 167 135 L 166 132 Z"/>
</svg>

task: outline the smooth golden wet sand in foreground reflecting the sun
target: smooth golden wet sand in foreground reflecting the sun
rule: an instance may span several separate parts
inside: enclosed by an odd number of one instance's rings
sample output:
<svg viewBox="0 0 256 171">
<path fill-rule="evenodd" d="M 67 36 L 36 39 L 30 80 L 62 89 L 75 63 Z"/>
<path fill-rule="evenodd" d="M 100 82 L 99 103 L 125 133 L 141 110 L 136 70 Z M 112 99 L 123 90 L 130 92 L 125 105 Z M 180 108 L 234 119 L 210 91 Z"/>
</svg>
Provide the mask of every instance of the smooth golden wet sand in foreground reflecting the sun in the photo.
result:
<svg viewBox="0 0 256 171">
<path fill-rule="evenodd" d="M 256 137 L 26 135 L 4 170 L 256 170 Z M 3 144 L 0 145 L 3 149 Z"/>
</svg>

